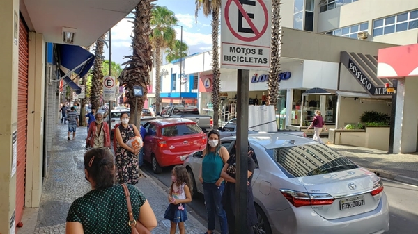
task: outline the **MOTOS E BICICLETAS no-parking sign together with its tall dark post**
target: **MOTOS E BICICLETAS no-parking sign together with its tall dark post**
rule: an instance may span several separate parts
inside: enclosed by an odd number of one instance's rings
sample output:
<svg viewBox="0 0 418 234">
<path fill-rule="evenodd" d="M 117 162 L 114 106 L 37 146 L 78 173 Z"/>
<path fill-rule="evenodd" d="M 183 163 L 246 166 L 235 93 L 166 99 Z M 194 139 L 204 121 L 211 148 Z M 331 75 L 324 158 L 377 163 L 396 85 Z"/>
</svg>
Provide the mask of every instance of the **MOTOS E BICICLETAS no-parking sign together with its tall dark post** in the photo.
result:
<svg viewBox="0 0 418 234">
<path fill-rule="evenodd" d="M 221 12 L 221 67 L 238 69 L 234 233 L 247 233 L 249 69 L 270 69 L 271 3 L 224 0 Z"/>
</svg>

